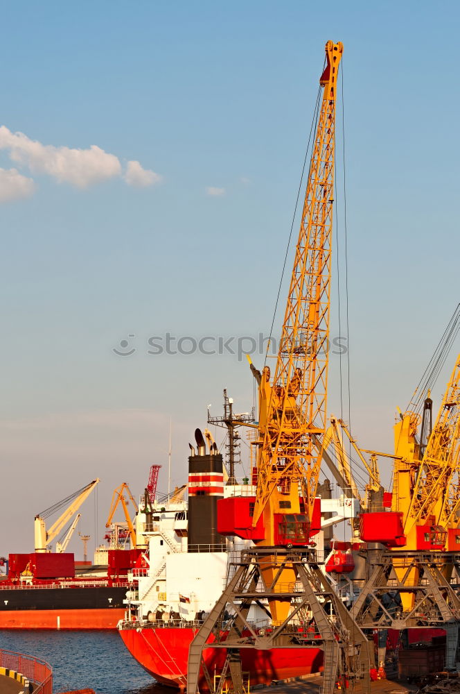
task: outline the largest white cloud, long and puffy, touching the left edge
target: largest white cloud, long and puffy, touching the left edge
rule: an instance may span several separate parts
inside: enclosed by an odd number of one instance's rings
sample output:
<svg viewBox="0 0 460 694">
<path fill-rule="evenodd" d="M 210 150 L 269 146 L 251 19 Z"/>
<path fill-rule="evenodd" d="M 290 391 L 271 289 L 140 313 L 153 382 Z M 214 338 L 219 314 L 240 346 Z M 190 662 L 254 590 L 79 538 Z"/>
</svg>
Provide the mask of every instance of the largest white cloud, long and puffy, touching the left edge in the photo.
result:
<svg viewBox="0 0 460 694">
<path fill-rule="evenodd" d="M 10 151 L 10 159 L 33 173 L 48 174 L 77 188 L 121 175 L 121 164 L 114 154 L 91 144 L 89 149 L 71 149 L 42 144 L 24 133 L 0 127 L 0 149 Z"/>
</svg>

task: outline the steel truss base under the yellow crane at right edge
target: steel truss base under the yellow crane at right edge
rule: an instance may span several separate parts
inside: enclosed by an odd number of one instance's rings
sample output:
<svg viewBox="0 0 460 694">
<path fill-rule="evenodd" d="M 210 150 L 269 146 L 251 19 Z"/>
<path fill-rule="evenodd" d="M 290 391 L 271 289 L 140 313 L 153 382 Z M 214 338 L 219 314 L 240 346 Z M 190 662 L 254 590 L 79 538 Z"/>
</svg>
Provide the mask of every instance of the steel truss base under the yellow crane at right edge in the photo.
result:
<svg viewBox="0 0 460 694">
<path fill-rule="evenodd" d="M 446 667 L 455 669 L 460 599 L 443 575 L 443 570 L 449 565 L 459 566 L 460 556 L 451 552 L 376 550 L 368 555 L 369 559 L 373 571 L 350 611 L 360 629 L 446 629 Z M 414 596 L 409 611 L 403 609 L 400 601 L 402 593 Z"/>
</svg>

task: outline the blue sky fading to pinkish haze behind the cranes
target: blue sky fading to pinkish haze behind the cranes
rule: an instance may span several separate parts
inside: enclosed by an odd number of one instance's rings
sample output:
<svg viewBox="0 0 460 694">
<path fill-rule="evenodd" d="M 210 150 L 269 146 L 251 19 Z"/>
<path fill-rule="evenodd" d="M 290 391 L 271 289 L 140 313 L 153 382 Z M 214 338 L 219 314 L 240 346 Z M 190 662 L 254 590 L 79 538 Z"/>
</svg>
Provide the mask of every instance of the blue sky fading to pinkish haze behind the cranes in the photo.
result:
<svg viewBox="0 0 460 694">
<path fill-rule="evenodd" d="M 0 554 L 31 550 L 33 516 L 96 476 L 81 527 L 94 538 L 97 511 L 100 539 L 115 486 L 141 493 L 158 462 L 166 491 L 170 418 L 182 484 L 206 405 L 227 387 L 250 409 L 236 355 L 148 339 L 267 335 L 328 39 L 344 44 L 351 424 L 391 449 L 459 301 L 458 24 L 448 2 L 3 3 Z M 337 208 L 343 248 L 341 187 Z M 337 373 L 333 356 L 335 414 Z"/>
</svg>

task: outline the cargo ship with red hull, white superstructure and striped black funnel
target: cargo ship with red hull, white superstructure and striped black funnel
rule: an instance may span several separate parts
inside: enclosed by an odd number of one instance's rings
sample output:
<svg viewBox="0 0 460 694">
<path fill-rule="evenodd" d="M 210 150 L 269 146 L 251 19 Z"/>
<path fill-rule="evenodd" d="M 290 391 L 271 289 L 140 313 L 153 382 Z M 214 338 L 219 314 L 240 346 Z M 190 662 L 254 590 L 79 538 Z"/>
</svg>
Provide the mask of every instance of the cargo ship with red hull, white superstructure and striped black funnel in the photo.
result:
<svg viewBox="0 0 460 694">
<path fill-rule="evenodd" d="M 236 421 L 235 415 L 232 421 Z M 255 500 L 256 486 L 248 484 L 247 478 L 238 484 L 233 466 L 224 480 L 222 455 L 218 454 L 209 432 L 205 433 L 207 446 L 202 432 L 196 430 L 196 450 L 191 446 L 192 455 L 188 458 L 188 514 L 166 509 L 154 514 L 149 566 L 132 571 L 133 585 L 125 601 L 126 615 L 118 624 L 123 643 L 136 661 L 157 682 L 181 690 L 186 687 L 188 648 L 206 613 L 222 594 L 229 560 L 236 559 L 252 544 L 218 532 L 218 501 L 238 497 L 250 504 Z M 229 434 L 228 448 L 233 457 L 238 438 L 232 439 L 233 432 Z M 321 512 L 328 516 L 324 525 L 351 518 L 356 510 L 343 497 L 321 501 Z M 322 539 L 323 532 L 319 532 L 320 551 Z M 168 551 L 161 555 L 161 548 L 166 545 Z M 270 628 L 264 605 L 252 609 L 249 618 L 258 629 Z M 306 631 L 299 624 L 299 639 L 306 638 Z M 220 672 L 226 655 L 222 648 L 206 649 L 210 673 Z M 242 649 L 241 659 L 252 686 L 319 672 L 323 651 L 320 648 Z M 200 682 L 200 688 L 207 688 L 205 680 Z"/>
</svg>

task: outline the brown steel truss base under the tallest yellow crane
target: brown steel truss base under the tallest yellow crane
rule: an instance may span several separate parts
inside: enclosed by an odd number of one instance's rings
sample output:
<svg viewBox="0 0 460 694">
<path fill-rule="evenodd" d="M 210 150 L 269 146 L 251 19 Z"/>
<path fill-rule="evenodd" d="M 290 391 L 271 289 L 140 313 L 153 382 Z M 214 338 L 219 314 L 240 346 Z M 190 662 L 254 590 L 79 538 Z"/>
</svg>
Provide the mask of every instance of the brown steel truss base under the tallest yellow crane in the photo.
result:
<svg viewBox="0 0 460 694">
<path fill-rule="evenodd" d="M 274 569 L 269 586 L 261 578 L 267 563 Z M 294 584 L 283 585 L 279 581 L 286 568 L 294 569 Z M 253 605 L 264 609 L 266 602 L 274 600 L 290 602 L 290 614 L 283 623 L 268 623 L 260 628 L 249 621 Z M 207 648 L 227 650 L 216 687 L 204 663 L 203 652 Z M 337 677 L 362 679 L 362 691 L 369 692 L 373 645 L 337 597 L 311 550 L 250 548 L 240 560 L 230 564 L 227 588 L 191 643 L 187 693 L 199 692 L 200 679 L 204 677 L 211 694 L 221 694 L 226 680 L 231 681 L 236 694 L 242 694 L 241 650 L 245 648 L 321 648 L 323 694 L 333 694 Z"/>
</svg>

